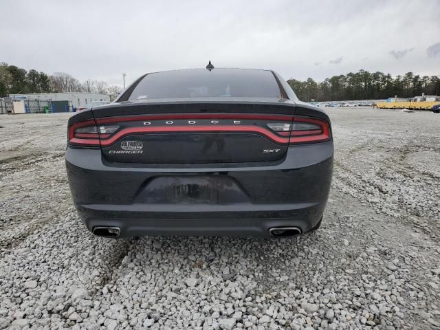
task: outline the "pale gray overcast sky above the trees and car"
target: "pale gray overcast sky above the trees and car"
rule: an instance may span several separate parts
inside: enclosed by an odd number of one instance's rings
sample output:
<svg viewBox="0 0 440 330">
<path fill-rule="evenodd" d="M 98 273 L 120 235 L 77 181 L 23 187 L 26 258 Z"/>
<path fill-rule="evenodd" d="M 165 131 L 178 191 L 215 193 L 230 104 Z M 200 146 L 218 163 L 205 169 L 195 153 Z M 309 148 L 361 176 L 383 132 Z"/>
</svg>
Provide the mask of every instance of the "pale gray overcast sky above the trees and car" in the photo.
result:
<svg viewBox="0 0 440 330">
<path fill-rule="evenodd" d="M 440 74 L 440 1 L 2 0 L 0 62 L 122 85 L 146 72 Z"/>
</svg>

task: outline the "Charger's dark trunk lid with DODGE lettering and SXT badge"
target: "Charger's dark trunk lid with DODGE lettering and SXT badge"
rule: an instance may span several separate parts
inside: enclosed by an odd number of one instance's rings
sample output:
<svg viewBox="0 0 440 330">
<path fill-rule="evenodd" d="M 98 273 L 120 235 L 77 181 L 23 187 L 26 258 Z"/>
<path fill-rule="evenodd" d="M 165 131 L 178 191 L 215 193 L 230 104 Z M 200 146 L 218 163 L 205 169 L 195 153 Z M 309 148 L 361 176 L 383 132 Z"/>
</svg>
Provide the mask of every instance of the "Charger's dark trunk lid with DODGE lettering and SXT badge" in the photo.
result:
<svg viewBox="0 0 440 330">
<path fill-rule="evenodd" d="M 287 151 L 294 103 L 121 102 L 93 112 L 102 155 L 110 162 L 270 162 Z"/>
</svg>

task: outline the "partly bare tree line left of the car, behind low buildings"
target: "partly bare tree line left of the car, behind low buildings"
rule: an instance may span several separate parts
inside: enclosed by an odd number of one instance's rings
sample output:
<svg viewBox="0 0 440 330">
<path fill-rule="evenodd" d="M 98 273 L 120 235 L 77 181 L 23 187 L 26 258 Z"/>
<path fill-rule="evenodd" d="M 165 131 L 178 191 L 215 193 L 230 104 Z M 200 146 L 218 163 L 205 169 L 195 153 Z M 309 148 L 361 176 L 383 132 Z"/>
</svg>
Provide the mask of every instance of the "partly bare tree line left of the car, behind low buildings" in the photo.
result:
<svg viewBox="0 0 440 330">
<path fill-rule="evenodd" d="M 0 62 L 0 98 L 8 94 L 32 93 L 98 93 L 108 94 L 111 100 L 122 91 L 118 85 L 104 81 L 87 80 L 83 83 L 65 72 L 47 75 L 35 69 L 26 71 L 15 65 Z"/>
</svg>

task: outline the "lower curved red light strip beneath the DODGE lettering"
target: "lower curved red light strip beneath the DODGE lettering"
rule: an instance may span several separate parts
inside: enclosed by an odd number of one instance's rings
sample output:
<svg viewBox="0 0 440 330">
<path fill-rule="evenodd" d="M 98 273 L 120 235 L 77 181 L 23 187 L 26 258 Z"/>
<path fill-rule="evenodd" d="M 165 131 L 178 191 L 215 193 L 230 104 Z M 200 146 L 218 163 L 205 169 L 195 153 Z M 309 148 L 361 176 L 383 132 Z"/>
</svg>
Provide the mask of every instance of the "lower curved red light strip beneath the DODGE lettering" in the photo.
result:
<svg viewBox="0 0 440 330">
<path fill-rule="evenodd" d="M 279 144 L 289 143 L 288 137 L 280 137 L 271 131 L 264 129 L 260 126 L 232 126 L 232 125 L 222 125 L 222 126 L 157 126 L 157 127 L 128 127 L 122 129 L 118 133 L 115 133 L 112 137 L 106 140 L 101 140 L 101 146 L 109 146 L 116 141 L 120 140 L 125 135 L 133 133 L 162 133 L 162 132 L 254 132 L 260 133 L 269 137 L 274 142 Z"/>
</svg>

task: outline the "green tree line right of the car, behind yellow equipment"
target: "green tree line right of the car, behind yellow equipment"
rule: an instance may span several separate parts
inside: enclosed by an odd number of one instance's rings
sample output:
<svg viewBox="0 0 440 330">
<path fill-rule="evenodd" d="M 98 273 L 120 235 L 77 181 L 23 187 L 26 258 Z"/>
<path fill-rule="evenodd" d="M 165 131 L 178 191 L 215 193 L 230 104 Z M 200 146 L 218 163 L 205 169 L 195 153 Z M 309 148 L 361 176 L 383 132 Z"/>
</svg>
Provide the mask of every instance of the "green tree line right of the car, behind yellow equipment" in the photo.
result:
<svg viewBox="0 0 440 330">
<path fill-rule="evenodd" d="M 370 73 L 366 70 L 326 78 L 318 83 L 312 78 L 305 81 L 289 79 L 287 83 L 294 89 L 300 100 L 343 101 L 343 100 L 380 100 L 397 95 L 398 98 L 413 96 L 440 95 L 438 76 L 420 76 L 408 72 L 403 76 Z"/>
</svg>

